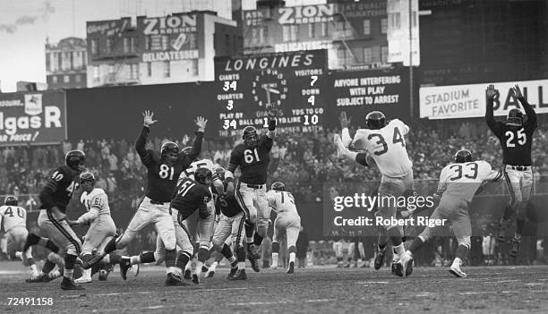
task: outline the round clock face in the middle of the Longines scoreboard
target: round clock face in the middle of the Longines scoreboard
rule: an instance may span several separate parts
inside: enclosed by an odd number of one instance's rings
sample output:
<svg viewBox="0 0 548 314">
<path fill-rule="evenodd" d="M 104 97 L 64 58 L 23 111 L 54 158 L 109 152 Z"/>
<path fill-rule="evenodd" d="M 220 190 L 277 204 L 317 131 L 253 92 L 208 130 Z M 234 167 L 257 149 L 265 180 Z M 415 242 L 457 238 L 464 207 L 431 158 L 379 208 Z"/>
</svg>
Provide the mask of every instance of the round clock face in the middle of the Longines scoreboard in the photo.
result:
<svg viewBox="0 0 548 314">
<path fill-rule="evenodd" d="M 256 72 L 251 92 L 253 100 L 261 107 L 280 106 L 287 98 L 287 80 L 278 70 Z"/>
</svg>

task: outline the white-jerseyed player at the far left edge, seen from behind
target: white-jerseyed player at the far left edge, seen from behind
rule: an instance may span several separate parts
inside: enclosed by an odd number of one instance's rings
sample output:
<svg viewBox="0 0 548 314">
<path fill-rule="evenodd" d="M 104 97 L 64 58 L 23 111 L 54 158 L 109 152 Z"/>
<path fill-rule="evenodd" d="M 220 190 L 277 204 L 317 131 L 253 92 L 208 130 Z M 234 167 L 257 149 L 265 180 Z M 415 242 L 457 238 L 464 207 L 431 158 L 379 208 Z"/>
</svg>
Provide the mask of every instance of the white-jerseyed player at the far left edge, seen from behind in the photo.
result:
<svg viewBox="0 0 548 314">
<path fill-rule="evenodd" d="M 12 256 L 21 256 L 23 263 L 32 270 L 32 276 L 38 276 L 36 263 L 32 259 L 32 248 L 23 251 L 29 232 L 27 231 L 27 211 L 18 206 L 18 199 L 8 196 L 4 199 L 4 206 L 0 206 L 0 231 L 7 235 L 7 253 Z"/>
</svg>

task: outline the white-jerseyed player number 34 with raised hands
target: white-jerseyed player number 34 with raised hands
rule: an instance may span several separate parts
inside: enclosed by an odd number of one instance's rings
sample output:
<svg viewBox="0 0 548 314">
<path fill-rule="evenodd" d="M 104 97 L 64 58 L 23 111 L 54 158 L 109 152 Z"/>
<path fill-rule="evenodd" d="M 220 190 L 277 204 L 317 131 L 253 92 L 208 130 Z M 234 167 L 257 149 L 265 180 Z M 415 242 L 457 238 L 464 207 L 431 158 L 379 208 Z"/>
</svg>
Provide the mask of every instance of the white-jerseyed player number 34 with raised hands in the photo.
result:
<svg viewBox="0 0 548 314">
<path fill-rule="evenodd" d="M 350 120 L 343 111 L 339 117 L 342 126 L 342 140 L 336 136 L 339 156 L 347 157 L 361 165 L 371 165 L 372 161 L 381 171 L 380 198 L 398 198 L 407 190 L 413 189 L 413 164 L 407 156 L 406 140 L 404 136 L 409 127 L 398 119 L 387 123 L 386 117 L 379 111 L 373 111 L 365 117 L 369 129 L 359 129 L 354 139 L 350 137 L 348 125 Z M 351 147 L 361 152 L 349 151 Z M 396 202 L 381 204 L 379 212 L 384 218 L 396 216 Z M 396 252 L 395 274 L 407 276 L 413 272 L 413 259 L 407 255 L 401 240 L 402 232 L 398 225 L 386 225 L 392 247 Z"/>
</svg>

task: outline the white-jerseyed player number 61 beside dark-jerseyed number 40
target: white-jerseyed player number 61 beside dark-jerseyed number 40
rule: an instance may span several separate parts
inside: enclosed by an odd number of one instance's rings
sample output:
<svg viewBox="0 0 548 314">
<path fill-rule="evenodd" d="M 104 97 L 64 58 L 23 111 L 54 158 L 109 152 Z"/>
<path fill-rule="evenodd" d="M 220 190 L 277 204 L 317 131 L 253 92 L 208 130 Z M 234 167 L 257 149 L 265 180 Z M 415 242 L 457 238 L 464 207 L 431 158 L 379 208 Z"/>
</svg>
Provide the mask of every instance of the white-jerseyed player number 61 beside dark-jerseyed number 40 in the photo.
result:
<svg viewBox="0 0 548 314">
<path fill-rule="evenodd" d="M 81 248 L 81 260 L 89 261 L 94 250 L 102 250 L 116 235 L 116 225 L 110 216 L 107 193 L 95 187 L 95 176 L 89 172 L 80 174 L 81 193 L 80 201 L 87 212 L 77 220 L 67 220 L 69 225 L 90 225 L 84 236 Z M 120 256 L 109 254 L 102 260 L 105 264 L 118 264 Z M 106 278 L 102 278 L 106 279 Z M 91 269 L 84 270 L 82 276 L 74 280 L 77 284 L 91 282 Z"/>
</svg>

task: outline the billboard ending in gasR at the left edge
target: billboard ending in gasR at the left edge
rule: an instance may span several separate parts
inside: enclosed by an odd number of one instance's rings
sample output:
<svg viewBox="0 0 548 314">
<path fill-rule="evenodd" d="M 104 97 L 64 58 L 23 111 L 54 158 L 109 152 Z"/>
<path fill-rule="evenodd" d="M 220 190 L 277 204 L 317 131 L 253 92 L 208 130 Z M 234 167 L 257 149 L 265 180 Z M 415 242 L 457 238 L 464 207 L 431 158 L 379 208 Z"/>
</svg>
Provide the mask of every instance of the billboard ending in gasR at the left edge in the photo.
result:
<svg viewBox="0 0 548 314">
<path fill-rule="evenodd" d="M 64 91 L 0 94 L 0 146 L 66 139 Z"/>
</svg>

